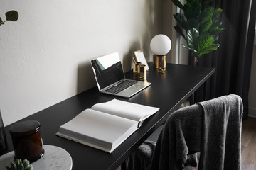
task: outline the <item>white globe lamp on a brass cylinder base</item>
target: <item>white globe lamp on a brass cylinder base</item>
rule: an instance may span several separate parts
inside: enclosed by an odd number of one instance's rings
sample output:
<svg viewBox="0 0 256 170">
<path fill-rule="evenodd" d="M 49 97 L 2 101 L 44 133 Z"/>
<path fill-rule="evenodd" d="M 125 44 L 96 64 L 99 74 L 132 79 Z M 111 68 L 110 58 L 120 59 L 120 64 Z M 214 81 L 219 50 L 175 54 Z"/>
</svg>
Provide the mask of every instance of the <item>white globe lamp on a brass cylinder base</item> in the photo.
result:
<svg viewBox="0 0 256 170">
<path fill-rule="evenodd" d="M 154 68 L 166 69 L 166 54 L 171 50 L 171 40 L 164 34 L 154 36 L 150 42 Z"/>
</svg>

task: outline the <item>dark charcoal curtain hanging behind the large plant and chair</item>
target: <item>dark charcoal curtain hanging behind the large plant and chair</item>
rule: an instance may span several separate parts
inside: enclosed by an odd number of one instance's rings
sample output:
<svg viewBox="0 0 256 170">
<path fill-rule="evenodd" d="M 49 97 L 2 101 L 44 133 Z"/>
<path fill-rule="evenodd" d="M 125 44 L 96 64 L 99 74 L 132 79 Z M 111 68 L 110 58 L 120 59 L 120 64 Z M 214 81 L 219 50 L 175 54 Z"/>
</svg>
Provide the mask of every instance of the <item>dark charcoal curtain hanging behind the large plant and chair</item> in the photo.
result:
<svg viewBox="0 0 256 170">
<path fill-rule="evenodd" d="M 204 2 L 206 0 L 202 0 Z M 248 116 L 248 91 L 255 35 L 255 0 L 213 0 L 209 5 L 222 8 L 223 21 L 217 51 L 203 55 L 199 67 L 215 67 L 216 72 L 206 86 L 195 94 L 195 102 L 227 94 L 238 94 L 244 103 L 244 115 Z M 204 7 L 204 6 L 203 6 Z M 193 59 L 190 57 L 190 64 Z M 206 90 L 206 92 L 205 92 Z"/>
</svg>

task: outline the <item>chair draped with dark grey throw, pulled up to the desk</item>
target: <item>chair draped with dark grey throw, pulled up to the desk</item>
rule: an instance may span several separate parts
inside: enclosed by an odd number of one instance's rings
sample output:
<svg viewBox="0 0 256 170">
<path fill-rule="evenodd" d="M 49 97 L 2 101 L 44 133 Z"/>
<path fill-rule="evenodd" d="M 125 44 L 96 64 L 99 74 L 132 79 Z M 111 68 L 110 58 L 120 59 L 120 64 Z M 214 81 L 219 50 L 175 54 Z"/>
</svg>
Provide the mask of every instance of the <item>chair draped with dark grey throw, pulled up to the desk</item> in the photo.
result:
<svg viewBox="0 0 256 170">
<path fill-rule="evenodd" d="M 127 169 L 241 169 L 242 109 L 237 95 L 179 109 L 167 118 L 158 140 L 149 138 L 127 159 Z"/>
</svg>

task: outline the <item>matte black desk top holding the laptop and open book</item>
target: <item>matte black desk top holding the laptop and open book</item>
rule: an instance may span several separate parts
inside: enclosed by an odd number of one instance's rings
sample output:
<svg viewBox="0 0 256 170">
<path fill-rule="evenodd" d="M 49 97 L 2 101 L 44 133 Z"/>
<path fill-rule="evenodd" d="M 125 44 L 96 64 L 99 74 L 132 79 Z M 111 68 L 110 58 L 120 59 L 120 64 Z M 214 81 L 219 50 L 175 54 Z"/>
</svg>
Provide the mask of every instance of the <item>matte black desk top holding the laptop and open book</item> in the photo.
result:
<svg viewBox="0 0 256 170">
<path fill-rule="evenodd" d="M 38 120 L 41 123 L 43 144 L 55 145 L 68 151 L 73 159 L 74 170 L 85 167 L 86 169 L 117 169 L 129 157 L 129 154 L 139 147 L 172 112 L 181 106 L 181 103 L 186 101 L 215 72 L 214 68 L 166 64 L 167 72 L 161 74 L 156 69 L 152 69 L 152 63 L 149 63 L 149 67 L 151 69 L 147 73 L 147 81 L 151 82 L 151 86 L 132 98 L 100 94 L 97 87 L 94 87 L 23 120 Z M 126 75 L 132 78 L 132 73 Z M 68 122 L 86 108 L 90 108 L 95 103 L 110 101 L 112 98 L 159 107 L 160 111 L 145 120 L 139 130 L 117 147 L 112 154 L 55 135 L 60 125 Z M 8 132 L 10 127 L 11 125 L 8 125 L 5 128 L 9 147 L 1 154 L 13 150 L 11 136 Z"/>
</svg>

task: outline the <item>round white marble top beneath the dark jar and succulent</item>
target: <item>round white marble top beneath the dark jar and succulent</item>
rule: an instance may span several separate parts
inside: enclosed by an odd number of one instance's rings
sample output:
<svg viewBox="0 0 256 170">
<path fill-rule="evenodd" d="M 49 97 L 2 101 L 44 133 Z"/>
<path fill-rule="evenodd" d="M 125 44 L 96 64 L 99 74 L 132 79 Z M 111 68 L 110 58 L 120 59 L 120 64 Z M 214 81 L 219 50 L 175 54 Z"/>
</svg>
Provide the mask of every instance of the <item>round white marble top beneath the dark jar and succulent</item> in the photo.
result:
<svg viewBox="0 0 256 170">
<path fill-rule="evenodd" d="M 71 170 L 72 158 L 70 154 L 60 147 L 52 145 L 43 145 L 45 154 L 41 159 L 32 163 L 35 170 Z M 10 163 L 14 162 L 14 151 L 4 154 L 0 157 L 0 169 L 5 169 L 6 166 L 10 166 Z"/>
</svg>

